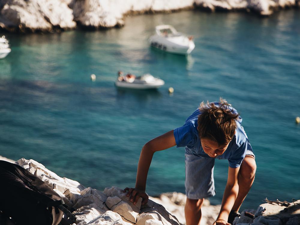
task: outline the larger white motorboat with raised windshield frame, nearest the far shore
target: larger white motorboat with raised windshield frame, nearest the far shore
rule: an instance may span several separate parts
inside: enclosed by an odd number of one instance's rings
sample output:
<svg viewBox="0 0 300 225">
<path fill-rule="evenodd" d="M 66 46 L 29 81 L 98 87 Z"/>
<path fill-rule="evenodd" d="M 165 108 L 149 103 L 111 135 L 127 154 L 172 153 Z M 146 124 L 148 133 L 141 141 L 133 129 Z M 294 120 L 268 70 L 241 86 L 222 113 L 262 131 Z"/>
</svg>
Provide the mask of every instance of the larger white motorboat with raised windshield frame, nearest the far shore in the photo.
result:
<svg viewBox="0 0 300 225">
<path fill-rule="evenodd" d="M 190 54 L 195 48 L 193 37 L 179 33 L 173 26 L 159 25 L 155 27 L 156 35 L 149 38 L 150 45 L 170 53 Z"/>
</svg>

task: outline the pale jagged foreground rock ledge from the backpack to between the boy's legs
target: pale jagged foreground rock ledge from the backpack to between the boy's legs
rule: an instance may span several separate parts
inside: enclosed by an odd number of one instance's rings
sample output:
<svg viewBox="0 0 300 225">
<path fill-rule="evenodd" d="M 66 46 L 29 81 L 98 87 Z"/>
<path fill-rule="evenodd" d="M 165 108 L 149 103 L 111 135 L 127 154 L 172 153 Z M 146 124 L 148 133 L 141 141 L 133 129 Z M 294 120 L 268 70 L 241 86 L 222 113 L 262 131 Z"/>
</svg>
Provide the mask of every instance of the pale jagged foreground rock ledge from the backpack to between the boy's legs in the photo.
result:
<svg viewBox="0 0 300 225">
<path fill-rule="evenodd" d="M 8 161 L 8 159 L 1 157 L 0 160 Z M 185 224 L 185 195 L 182 193 L 164 193 L 157 198 L 149 197 L 146 205 L 141 205 L 142 199 L 139 199 L 134 205 L 128 200 L 126 193 L 117 187 L 109 187 L 105 188 L 104 191 L 99 191 L 91 187 L 84 187 L 77 181 L 65 177 L 61 178 L 32 159 L 22 158 L 15 163 L 40 178 L 58 193 L 68 208 L 74 210 L 72 211 L 76 216 L 77 225 Z M 209 201 L 206 200 L 202 207 L 206 216 L 203 217 L 201 224 L 212 224 L 219 210 L 220 205 L 210 205 Z"/>
</svg>

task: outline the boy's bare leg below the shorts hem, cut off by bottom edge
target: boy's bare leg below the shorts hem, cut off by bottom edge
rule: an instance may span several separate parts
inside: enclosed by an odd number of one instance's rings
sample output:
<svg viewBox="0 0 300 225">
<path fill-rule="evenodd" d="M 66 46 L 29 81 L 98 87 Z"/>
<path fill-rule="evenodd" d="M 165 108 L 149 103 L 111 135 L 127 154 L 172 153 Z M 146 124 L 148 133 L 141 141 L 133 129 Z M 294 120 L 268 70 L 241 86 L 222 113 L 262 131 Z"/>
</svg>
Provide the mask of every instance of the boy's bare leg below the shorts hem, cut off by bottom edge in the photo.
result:
<svg viewBox="0 0 300 225">
<path fill-rule="evenodd" d="M 184 206 L 184 215 L 186 225 L 198 225 L 201 220 L 201 206 L 203 205 L 203 199 L 188 199 Z"/>
</svg>

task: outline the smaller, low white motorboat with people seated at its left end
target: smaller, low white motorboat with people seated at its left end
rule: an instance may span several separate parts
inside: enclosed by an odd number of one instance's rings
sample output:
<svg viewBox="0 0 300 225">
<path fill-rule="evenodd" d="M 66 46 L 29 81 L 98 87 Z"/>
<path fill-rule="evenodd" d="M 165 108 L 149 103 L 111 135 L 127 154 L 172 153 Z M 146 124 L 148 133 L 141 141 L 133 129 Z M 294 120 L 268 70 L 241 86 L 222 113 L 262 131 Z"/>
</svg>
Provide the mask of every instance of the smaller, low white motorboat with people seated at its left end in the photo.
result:
<svg viewBox="0 0 300 225">
<path fill-rule="evenodd" d="M 164 85 L 164 83 L 162 79 L 156 78 L 149 73 L 138 77 L 134 75 L 119 76 L 115 82 L 117 87 L 132 89 L 156 89 Z"/>
</svg>

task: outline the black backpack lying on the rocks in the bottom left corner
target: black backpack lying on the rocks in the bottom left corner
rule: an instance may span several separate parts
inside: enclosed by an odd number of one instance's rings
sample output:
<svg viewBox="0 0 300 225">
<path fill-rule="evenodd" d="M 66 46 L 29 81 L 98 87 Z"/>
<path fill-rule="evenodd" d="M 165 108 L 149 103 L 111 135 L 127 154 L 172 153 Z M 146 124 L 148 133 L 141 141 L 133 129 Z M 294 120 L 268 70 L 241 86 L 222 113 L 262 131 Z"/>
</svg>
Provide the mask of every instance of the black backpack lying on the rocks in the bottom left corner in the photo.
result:
<svg viewBox="0 0 300 225">
<path fill-rule="evenodd" d="M 0 160 L 0 224 L 70 225 L 76 217 L 37 176 Z"/>
</svg>

